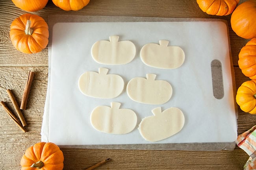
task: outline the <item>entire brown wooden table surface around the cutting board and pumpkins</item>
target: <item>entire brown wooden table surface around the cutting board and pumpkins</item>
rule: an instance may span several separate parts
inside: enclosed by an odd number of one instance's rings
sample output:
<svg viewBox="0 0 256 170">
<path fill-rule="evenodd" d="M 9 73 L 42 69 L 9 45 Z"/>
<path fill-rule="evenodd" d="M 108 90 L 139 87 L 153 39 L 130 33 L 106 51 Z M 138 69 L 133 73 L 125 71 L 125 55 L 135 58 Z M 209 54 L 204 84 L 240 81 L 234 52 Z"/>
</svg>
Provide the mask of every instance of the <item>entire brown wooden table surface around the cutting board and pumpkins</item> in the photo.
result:
<svg viewBox="0 0 256 170">
<path fill-rule="evenodd" d="M 245 0 L 241 0 L 244 2 Z M 0 107 L 0 170 L 19 170 L 20 159 L 29 146 L 41 141 L 41 124 L 44 112 L 48 82 L 48 48 L 37 54 L 22 54 L 9 39 L 11 22 L 27 13 L 17 8 L 11 0 L 0 0 L 0 100 L 15 113 L 6 89 L 12 89 L 20 104 L 29 70 L 35 71 L 27 110 L 22 111 L 28 132 L 22 133 L 19 127 Z M 46 7 L 34 12 L 46 22 L 48 15 L 104 15 L 133 17 L 171 17 L 171 18 L 221 18 L 228 21 L 230 46 L 236 76 L 236 89 L 245 77 L 237 65 L 240 49 L 246 39 L 238 37 L 230 26 L 230 15 L 218 17 L 202 12 L 196 0 L 91 0 L 80 11 L 63 11 L 50 0 Z M 210 41 L 210 40 L 209 40 Z M 200 66 L 198 66 L 200 67 Z M 203 70 L 202 70 L 203 71 Z M 255 125 L 255 116 L 238 109 L 238 129 L 241 134 Z M 156 151 L 156 150 L 100 150 L 61 148 L 64 153 L 64 170 L 84 170 L 103 159 L 112 161 L 98 170 L 242 170 L 249 158 L 238 148 L 234 151 Z"/>
</svg>

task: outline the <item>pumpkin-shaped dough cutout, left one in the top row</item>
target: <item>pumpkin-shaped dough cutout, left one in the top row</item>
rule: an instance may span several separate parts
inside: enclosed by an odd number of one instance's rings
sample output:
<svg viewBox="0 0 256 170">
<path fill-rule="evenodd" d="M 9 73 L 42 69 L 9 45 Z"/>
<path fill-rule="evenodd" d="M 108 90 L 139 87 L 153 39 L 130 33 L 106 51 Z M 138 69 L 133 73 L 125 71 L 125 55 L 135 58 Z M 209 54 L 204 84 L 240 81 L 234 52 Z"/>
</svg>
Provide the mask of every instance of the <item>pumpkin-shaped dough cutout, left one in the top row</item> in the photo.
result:
<svg viewBox="0 0 256 170">
<path fill-rule="evenodd" d="M 118 39 L 119 36 L 110 36 L 109 41 L 95 42 L 91 48 L 93 59 L 105 65 L 123 65 L 131 62 L 136 54 L 134 43 Z"/>
</svg>

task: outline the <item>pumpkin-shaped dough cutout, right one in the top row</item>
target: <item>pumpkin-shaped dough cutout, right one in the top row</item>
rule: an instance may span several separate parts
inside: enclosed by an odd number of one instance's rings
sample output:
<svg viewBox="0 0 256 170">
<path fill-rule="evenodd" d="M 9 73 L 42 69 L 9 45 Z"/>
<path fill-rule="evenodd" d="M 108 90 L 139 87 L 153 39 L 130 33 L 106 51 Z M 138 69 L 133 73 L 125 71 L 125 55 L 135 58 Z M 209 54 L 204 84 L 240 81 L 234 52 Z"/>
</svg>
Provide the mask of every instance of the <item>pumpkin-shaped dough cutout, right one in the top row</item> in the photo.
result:
<svg viewBox="0 0 256 170">
<path fill-rule="evenodd" d="M 141 48 L 141 60 L 145 65 L 162 69 L 174 69 L 184 63 L 185 54 L 179 46 L 168 46 L 169 41 L 146 44 Z"/>
</svg>

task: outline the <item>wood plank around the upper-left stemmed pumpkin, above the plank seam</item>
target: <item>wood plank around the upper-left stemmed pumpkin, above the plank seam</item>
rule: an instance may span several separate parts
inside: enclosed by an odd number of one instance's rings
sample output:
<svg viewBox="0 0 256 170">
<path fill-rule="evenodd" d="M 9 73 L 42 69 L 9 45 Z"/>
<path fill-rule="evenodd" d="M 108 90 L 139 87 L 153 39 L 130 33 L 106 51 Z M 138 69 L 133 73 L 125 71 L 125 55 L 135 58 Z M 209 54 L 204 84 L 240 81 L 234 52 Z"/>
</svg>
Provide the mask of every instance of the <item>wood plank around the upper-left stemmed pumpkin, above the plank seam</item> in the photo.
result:
<svg viewBox="0 0 256 170">
<path fill-rule="evenodd" d="M 0 1 L 0 66 L 47 66 L 48 64 L 47 48 L 37 54 L 23 54 L 11 43 L 9 38 L 11 22 L 25 13 L 26 11 L 17 8 L 11 0 Z"/>
</svg>

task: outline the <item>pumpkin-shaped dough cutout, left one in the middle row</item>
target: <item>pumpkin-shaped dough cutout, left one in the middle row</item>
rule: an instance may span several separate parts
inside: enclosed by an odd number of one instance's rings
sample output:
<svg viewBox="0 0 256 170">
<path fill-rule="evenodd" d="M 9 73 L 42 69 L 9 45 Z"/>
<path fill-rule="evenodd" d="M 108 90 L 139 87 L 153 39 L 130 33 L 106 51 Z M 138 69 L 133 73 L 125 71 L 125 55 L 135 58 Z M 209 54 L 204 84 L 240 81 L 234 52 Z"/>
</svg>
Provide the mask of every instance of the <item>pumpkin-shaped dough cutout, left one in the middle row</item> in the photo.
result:
<svg viewBox="0 0 256 170">
<path fill-rule="evenodd" d="M 99 68 L 97 72 L 85 72 L 78 80 L 80 91 L 94 98 L 115 98 L 124 89 L 124 80 L 116 74 L 107 74 L 107 68 Z"/>
</svg>

